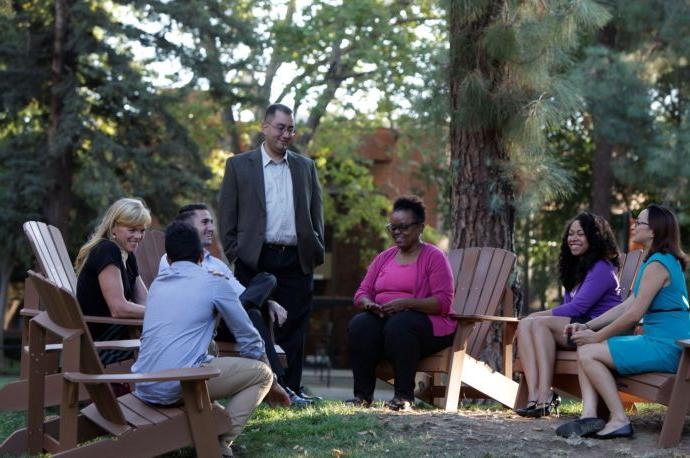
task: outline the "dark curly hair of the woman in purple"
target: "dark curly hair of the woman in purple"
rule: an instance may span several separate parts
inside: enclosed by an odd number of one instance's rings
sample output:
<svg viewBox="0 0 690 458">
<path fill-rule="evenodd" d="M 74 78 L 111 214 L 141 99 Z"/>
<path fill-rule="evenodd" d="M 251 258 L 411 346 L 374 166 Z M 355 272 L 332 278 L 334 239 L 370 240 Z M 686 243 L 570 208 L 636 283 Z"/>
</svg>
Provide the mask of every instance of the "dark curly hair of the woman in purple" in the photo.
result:
<svg viewBox="0 0 690 458">
<path fill-rule="evenodd" d="M 580 256 L 574 256 L 568 246 L 568 231 L 575 221 L 580 223 L 585 233 L 589 248 Z M 558 259 L 558 271 L 561 284 L 566 291 L 572 291 L 582 284 L 590 269 L 598 261 L 609 261 L 614 267 L 620 267 L 618 244 L 608 221 L 598 215 L 582 212 L 568 221 L 561 238 L 561 253 Z"/>
</svg>

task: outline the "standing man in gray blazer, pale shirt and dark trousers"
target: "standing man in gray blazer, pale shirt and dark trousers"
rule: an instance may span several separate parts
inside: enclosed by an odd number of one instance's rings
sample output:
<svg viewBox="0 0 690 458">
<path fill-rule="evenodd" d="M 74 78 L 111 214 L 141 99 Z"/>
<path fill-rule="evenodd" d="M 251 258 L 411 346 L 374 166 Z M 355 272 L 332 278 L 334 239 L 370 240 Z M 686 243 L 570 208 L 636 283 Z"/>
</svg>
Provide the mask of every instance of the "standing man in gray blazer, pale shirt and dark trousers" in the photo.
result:
<svg viewBox="0 0 690 458">
<path fill-rule="evenodd" d="M 287 309 L 275 328 L 288 367 L 281 384 L 291 400 L 309 400 L 302 388 L 304 338 L 312 307 L 314 268 L 324 260 L 323 205 L 314 161 L 288 150 L 295 136 L 292 110 L 268 107 L 265 141 L 228 159 L 220 189 L 219 219 L 225 255 L 247 284 L 259 272 L 273 274 L 273 299 Z"/>
</svg>

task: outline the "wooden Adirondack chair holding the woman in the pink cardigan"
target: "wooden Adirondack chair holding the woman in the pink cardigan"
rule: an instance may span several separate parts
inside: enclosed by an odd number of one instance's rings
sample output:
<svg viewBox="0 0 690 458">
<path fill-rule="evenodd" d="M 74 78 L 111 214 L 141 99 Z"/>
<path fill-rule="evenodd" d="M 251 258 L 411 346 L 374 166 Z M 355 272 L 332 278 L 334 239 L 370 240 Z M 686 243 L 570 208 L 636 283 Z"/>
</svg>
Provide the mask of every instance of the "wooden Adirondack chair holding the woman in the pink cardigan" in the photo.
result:
<svg viewBox="0 0 690 458">
<path fill-rule="evenodd" d="M 514 407 L 518 384 L 512 379 L 512 341 L 517 326 L 513 295 L 507 286 L 515 254 L 499 248 L 452 250 L 448 259 L 455 277 L 455 299 L 450 317 L 457 320 L 453 345 L 422 359 L 418 372 L 432 374 L 428 397 L 438 407 L 456 412 L 461 386 L 472 397 L 489 397 Z M 503 373 L 480 361 L 492 323 L 503 323 Z M 447 381 L 443 380 L 447 374 Z M 379 378 L 392 382 L 388 362 L 379 364 Z"/>
</svg>

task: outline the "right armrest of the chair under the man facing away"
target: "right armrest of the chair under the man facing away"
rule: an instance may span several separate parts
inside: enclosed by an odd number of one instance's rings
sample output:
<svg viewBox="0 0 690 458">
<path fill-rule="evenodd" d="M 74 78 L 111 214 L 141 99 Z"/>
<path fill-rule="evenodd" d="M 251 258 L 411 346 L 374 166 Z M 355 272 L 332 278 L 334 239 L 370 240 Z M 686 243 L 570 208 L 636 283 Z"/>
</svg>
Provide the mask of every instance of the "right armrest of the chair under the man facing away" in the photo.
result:
<svg viewBox="0 0 690 458">
<path fill-rule="evenodd" d="M 139 382 L 182 382 L 186 380 L 208 380 L 220 375 L 217 367 L 183 367 L 150 374 L 84 374 L 65 372 L 65 379 L 74 383 L 139 383 Z"/>
</svg>

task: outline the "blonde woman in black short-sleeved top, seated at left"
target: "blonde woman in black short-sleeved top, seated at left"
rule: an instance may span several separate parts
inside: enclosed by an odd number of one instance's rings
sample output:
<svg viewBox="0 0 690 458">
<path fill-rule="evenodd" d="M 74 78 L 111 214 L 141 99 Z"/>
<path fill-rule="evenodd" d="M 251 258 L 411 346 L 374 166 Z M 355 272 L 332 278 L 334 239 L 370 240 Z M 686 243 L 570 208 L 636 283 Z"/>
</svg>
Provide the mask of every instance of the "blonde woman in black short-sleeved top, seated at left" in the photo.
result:
<svg viewBox="0 0 690 458">
<path fill-rule="evenodd" d="M 77 299 L 84 315 L 142 318 L 146 286 L 139 276 L 134 250 L 151 224 L 149 210 L 139 199 L 123 198 L 108 208 L 76 261 Z M 129 338 L 123 325 L 89 324 L 94 340 Z M 129 352 L 106 350 L 103 364 L 131 357 Z"/>
</svg>

